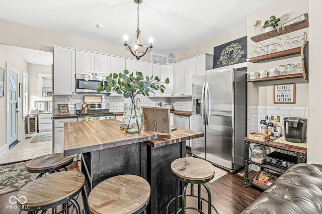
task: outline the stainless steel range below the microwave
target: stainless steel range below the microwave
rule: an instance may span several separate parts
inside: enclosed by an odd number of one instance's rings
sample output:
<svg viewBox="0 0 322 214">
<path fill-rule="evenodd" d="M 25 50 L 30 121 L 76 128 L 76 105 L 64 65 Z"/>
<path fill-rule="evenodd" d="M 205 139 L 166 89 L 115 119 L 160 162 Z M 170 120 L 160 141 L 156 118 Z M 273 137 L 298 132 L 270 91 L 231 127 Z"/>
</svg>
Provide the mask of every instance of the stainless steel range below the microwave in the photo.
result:
<svg viewBox="0 0 322 214">
<path fill-rule="evenodd" d="M 76 103 L 76 115 L 78 115 L 77 121 L 98 121 L 98 120 L 110 120 L 115 119 L 115 115 L 109 112 L 110 103 L 86 103 L 90 109 L 90 113 L 81 113 L 82 105 L 84 103 Z"/>
</svg>

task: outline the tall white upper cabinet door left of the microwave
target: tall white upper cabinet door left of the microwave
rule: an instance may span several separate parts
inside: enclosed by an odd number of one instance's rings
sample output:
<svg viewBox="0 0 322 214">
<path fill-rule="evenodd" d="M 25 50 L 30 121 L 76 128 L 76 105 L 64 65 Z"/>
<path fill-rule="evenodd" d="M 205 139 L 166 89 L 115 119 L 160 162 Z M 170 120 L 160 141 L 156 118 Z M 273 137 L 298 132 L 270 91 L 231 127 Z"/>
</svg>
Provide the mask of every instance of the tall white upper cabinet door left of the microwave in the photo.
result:
<svg viewBox="0 0 322 214">
<path fill-rule="evenodd" d="M 54 46 L 53 95 L 75 95 L 75 50 Z"/>
</svg>

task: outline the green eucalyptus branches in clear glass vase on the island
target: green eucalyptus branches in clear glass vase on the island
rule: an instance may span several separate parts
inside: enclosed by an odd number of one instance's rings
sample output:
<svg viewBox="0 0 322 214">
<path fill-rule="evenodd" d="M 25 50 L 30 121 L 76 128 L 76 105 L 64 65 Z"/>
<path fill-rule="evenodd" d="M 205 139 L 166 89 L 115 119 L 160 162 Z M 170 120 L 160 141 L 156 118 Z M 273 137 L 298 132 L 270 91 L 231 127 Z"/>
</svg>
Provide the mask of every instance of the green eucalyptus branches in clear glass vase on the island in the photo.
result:
<svg viewBox="0 0 322 214">
<path fill-rule="evenodd" d="M 123 73 L 111 73 L 106 77 L 106 85 L 103 87 L 99 86 L 97 92 L 102 92 L 104 89 L 106 92 L 116 91 L 118 94 L 123 94 L 125 98 L 131 98 L 132 105 L 129 110 L 127 110 L 123 115 L 123 126 L 129 133 L 137 133 L 142 129 L 143 116 L 140 111 L 136 109 L 135 106 L 135 96 L 138 94 L 143 94 L 144 96 L 149 96 L 150 93 L 154 93 L 153 90 L 160 90 L 162 93 L 165 91 L 165 86 L 160 79 L 155 76 L 143 76 L 142 72 L 136 71 L 134 73 L 129 73 L 128 70 L 124 70 Z M 169 84 L 169 78 L 165 79 L 166 84 Z"/>
</svg>

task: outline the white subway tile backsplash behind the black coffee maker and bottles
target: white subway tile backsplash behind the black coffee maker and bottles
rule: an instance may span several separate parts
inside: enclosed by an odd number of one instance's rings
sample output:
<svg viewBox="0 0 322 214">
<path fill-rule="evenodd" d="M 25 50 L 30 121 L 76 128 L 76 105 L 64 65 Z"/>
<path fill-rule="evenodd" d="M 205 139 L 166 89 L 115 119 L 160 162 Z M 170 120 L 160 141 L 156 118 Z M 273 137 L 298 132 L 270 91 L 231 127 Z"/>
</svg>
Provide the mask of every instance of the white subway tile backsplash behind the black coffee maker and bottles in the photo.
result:
<svg viewBox="0 0 322 214">
<path fill-rule="evenodd" d="M 260 132 L 260 122 L 265 116 L 270 119 L 274 116 L 276 123 L 277 116 L 280 116 L 282 133 L 284 133 L 284 118 L 300 117 L 308 119 L 308 107 L 284 107 L 284 106 L 248 106 L 247 108 L 247 133 Z"/>
</svg>

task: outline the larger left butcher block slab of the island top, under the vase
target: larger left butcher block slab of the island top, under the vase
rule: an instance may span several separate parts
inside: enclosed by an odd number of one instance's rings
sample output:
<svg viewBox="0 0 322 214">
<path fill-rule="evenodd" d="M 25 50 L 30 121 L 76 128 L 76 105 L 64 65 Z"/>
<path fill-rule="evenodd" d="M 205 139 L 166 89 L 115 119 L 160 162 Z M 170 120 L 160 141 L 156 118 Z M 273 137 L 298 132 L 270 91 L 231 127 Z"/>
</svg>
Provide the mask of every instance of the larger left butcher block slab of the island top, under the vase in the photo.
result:
<svg viewBox="0 0 322 214">
<path fill-rule="evenodd" d="M 120 121 L 100 120 L 64 123 L 64 155 L 75 155 L 157 138 L 155 132 L 130 134 L 120 130 Z"/>
</svg>

